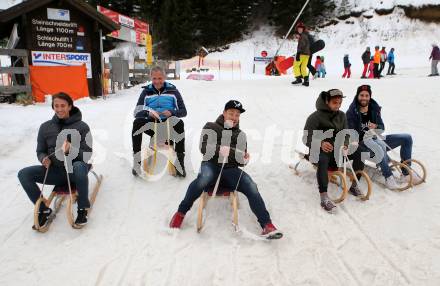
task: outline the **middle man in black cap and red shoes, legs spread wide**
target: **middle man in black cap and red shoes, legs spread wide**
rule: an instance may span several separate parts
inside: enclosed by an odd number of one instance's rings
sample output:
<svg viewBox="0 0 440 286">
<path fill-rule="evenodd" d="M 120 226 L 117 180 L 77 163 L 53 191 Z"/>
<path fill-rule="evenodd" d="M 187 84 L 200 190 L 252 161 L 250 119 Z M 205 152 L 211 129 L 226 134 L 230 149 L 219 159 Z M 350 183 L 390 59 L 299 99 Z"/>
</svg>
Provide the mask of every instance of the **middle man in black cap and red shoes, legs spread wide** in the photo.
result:
<svg viewBox="0 0 440 286">
<path fill-rule="evenodd" d="M 257 184 L 239 168 L 244 167 L 250 158 L 247 152 L 246 134 L 239 125 L 243 112 L 245 109 L 240 102 L 230 100 L 226 103 L 223 114 L 215 122 L 208 122 L 203 127 L 200 138 L 203 161 L 199 174 L 189 185 L 185 198 L 172 217 L 171 228 L 181 227 L 185 214 L 202 192 L 215 184 L 223 166 L 220 185 L 231 190 L 237 187 L 237 191 L 248 198 L 251 210 L 263 229 L 263 236 L 269 239 L 281 238 L 282 233 L 272 224 Z"/>
</svg>

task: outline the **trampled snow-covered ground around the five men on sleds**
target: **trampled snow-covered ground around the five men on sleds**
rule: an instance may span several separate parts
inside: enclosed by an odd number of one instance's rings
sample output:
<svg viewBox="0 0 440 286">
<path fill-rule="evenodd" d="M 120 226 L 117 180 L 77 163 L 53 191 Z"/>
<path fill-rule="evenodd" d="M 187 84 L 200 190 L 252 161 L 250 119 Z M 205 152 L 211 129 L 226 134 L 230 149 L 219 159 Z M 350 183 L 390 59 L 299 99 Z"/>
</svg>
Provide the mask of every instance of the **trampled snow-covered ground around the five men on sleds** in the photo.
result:
<svg viewBox="0 0 440 286">
<path fill-rule="evenodd" d="M 291 77 L 259 80 L 177 81 L 189 115 L 188 177 L 147 182 L 131 175 L 132 111 L 140 87 L 77 105 L 95 136 L 95 169 L 104 183 L 89 225 L 74 230 L 64 209 L 46 234 L 31 230 L 32 205 L 16 177 L 37 164 L 36 133 L 52 116 L 50 105 L 0 105 L 0 285 L 439 285 L 440 105 L 438 78 L 424 69 L 383 80 L 314 80 L 293 87 Z M 414 137 L 414 158 L 426 164 L 428 180 L 410 191 L 374 185 L 367 202 L 349 197 L 336 215 L 319 207 L 311 166 L 301 176 L 288 168 L 299 132 L 321 90 L 340 88 L 348 108 L 356 87 L 373 86 L 389 132 Z M 231 225 L 227 200 L 211 200 L 206 227 L 195 230 L 196 208 L 183 229 L 167 224 L 200 164 L 198 140 L 229 99 L 247 112 L 253 160 L 246 167 L 259 186 L 279 241 L 256 240 L 260 228 L 240 195 L 241 232 Z M 197 202 L 196 202 L 197 203 Z"/>
</svg>

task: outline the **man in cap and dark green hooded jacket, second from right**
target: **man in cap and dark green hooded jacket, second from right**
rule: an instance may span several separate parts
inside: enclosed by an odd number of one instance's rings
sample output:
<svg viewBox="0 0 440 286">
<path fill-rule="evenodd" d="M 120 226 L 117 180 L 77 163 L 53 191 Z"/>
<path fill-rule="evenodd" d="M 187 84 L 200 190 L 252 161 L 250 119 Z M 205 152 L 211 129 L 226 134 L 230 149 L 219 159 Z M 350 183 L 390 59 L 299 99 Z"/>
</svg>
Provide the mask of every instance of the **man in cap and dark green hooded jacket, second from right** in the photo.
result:
<svg viewBox="0 0 440 286">
<path fill-rule="evenodd" d="M 338 167 L 336 158 L 341 155 L 341 147 L 346 150 L 348 146 L 347 136 L 342 138 L 344 140 L 341 146 L 337 146 L 339 142 L 336 140 L 339 132 L 348 129 L 345 113 L 340 110 L 343 98 L 344 95 L 339 89 L 322 91 L 316 100 L 316 111 L 307 118 L 304 127 L 303 143 L 309 147 L 308 160 L 318 167 L 316 177 L 321 207 L 328 212 L 336 207 L 327 195 L 328 169 Z M 322 139 L 322 133 L 328 131 L 331 131 L 331 137 Z M 355 151 L 349 158 L 353 160 L 356 158 L 353 164 L 354 171 L 363 169 L 364 165 L 358 151 Z M 354 196 L 362 194 L 356 183 L 351 185 L 349 192 Z"/>
</svg>

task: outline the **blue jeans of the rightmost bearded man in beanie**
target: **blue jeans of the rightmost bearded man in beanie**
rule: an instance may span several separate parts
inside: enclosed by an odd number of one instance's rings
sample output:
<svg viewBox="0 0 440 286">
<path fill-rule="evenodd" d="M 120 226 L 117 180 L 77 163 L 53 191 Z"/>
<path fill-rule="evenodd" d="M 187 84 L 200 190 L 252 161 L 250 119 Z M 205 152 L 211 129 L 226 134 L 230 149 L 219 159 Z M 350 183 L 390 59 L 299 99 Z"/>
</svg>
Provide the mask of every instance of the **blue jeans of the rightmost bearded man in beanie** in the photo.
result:
<svg viewBox="0 0 440 286">
<path fill-rule="evenodd" d="M 389 167 L 390 158 L 387 155 L 388 147 L 386 145 L 388 145 L 391 149 L 394 149 L 394 148 L 397 148 L 400 146 L 400 160 L 401 160 L 401 162 L 411 159 L 412 137 L 409 134 L 386 135 L 385 140 L 382 141 L 379 139 L 374 139 L 374 143 L 376 143 L 377 146 L 379 146 L 385 154 L 382 161 L 378 164 L 381 171 L 382 171 L 382 175 L 385 178 L 388 178 L 393 175 L 393 173 Z M 359 148 L 361 149 L 362 152 L 365 152 L 365 151 L 371 152 L 371 150 L 368 147 L 366 147 L 364 144 L 360 144 Z M 404 175 L 408 175 L 407 171 L 405 169 L 402 169 L 402 173 Z"/>
</svg>

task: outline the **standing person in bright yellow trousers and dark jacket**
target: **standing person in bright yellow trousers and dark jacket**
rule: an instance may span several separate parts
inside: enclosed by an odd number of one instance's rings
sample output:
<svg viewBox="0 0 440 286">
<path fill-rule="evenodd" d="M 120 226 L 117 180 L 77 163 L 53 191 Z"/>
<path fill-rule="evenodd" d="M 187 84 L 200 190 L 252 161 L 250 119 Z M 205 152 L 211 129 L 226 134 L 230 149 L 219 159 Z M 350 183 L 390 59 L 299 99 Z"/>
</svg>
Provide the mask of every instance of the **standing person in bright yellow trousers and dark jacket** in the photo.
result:
<svg viewBox="0 0 440 286">
<path fill-rule="evenodd" d="M 310 58 L 310 41 L 307 31 L 303 23 L 299 23 L 296 26 L 296 32 L 299 34 L 298 48 L 296 51 L 295 64 L 293 66 L 293 72 L 296 80 L 292 84 L 302 83 L 304 86 L 309 86 L 309 76 L 307 65 Z M 304 82 L 303 82 L 304 79 Z"/>
</svg>

